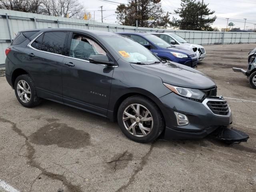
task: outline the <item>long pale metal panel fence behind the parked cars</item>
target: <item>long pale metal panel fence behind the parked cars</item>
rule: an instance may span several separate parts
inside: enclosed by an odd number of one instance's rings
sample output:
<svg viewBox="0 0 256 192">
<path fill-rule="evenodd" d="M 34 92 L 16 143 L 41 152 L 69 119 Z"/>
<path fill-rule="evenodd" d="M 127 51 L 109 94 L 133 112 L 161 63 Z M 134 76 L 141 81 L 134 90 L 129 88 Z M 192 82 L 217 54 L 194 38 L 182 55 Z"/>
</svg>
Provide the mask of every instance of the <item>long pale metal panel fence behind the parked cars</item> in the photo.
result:
<svg viewBox="0 0 256 192">
<path fill-rule="evenodd" d="M 0 26 L 2 26 L 0 30 L 0 66 L 4 66 L 4 50 L 10 45 L 17 32 L 35 28 L 79 28 L 107 32 L 164 31 L 178 34 L 194 44 L 256 43 L 256 33 L 253 32 L 211 32 L 142 28 L 4 9 L 0 9 Z"/>
</svg>

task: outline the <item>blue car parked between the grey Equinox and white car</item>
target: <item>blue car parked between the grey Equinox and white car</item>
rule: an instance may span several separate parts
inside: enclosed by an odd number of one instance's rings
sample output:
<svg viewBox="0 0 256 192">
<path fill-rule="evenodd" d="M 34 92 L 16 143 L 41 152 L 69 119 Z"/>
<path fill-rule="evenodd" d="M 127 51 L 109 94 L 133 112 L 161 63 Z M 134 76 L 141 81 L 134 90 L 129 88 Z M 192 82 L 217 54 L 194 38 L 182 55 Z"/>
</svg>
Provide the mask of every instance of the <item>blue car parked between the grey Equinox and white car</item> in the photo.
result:
<svg viewBox="0 0 256 192">
<path fill-rule="evenodd" d="M 197 67 L 198 58 L 193 51 L 184 48 L 176 48 L 161 38 L 144 32 L 119 32 L 118 34 L 132 38 L 162 59 L 192 68 Z"/>
</svg>

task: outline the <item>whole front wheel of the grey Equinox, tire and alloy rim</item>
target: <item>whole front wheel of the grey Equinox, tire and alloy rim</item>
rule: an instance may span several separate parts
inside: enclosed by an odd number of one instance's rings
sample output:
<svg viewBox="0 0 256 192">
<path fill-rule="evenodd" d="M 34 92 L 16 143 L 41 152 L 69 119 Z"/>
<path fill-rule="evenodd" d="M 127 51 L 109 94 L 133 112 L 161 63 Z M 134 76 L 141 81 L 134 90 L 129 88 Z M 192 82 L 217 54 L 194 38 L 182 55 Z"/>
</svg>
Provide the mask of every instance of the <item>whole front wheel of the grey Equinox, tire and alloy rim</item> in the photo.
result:
<svg viewBox="0 0 256 192">
<path fill-rule="evenodd" d="M 164 118 L 158 106 L 142 96 L 124 100 L 118 109 L 117 118 L 122 132 L 136 142 L 151 142 L 164 129 Z"/>
</svg>

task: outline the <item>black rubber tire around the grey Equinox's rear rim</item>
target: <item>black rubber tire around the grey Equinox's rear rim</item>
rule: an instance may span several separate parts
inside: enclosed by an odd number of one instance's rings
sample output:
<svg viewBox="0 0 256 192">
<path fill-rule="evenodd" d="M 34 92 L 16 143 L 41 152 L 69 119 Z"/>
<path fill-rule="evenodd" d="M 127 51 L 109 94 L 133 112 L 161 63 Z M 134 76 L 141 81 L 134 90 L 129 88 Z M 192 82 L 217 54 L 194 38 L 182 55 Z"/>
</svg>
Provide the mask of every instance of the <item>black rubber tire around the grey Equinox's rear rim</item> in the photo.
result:
<svg viewBox="0 0 256 192">
<path fill-rule="evenodd" d="M 18 91 L 17 91 L 17 84 L 20 80 L 24 80 L 30 87 L 30 100 L 29 102 L 23 102 L 19 96 L 18 96 Z M 30 78 L 30 76 L 28 74 L 24 74 L 24 75 L 20 75 L 16 78 L 15 83 L 14 83 L 14 90 L 15 90 L 15 95 L 16 98 L 18 99 L 18 101 L 20 102 L 20 104 L 22 104 L 24 107 L 35 107 L 38 106 L 41 102 L 41 98 L 39 98 L 36 94 L 36 87 L 35 84 L 33 82 L 33 80 Z"/>
</svg>

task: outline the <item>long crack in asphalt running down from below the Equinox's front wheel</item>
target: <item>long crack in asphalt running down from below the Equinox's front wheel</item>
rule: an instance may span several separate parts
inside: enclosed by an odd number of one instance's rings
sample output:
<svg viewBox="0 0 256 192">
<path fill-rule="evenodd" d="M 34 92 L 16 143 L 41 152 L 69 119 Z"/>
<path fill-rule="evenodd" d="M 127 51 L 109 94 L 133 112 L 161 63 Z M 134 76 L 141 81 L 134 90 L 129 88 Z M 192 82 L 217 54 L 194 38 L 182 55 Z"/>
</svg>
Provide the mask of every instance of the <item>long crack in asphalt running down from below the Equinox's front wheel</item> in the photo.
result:
<svg viewBox="0 0 256 192">
<path fill-rule="evenodd" d="M 142 157 L 141 162 L 139 164 L 140 166 L 134 171 L 132 176 L 130 176 L 128 183 L 121 186 L 116 192 L 121 192 L 122 190 L 125 190 L 130 184 L 132 184 L 132 182 L 134 182 L 136 174 L 138 174 L 138 172 L 142 171 L 143 167 L 147 164 L 148 157 L 152 153 L 153 148 L 154 148 L 154 142 L 151 144 L 148 152 Z"/>
</svg>

